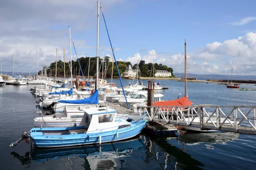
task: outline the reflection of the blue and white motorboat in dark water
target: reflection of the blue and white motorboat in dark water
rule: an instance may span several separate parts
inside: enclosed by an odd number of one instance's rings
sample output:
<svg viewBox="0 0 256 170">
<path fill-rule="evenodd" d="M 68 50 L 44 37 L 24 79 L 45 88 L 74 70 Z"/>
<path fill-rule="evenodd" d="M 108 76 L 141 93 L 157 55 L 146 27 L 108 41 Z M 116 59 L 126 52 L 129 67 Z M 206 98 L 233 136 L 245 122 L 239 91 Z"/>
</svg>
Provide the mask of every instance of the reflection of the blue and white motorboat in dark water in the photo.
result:
<svg viewBox="0 0 256 170">
<path fill-rule="evenodd" d="M 116 142 L 112 144 L 89 145 L 81 147 L 63 147 L 54 149 L 38 149 L 32 147 L 30 152 L 26 152 L 24 156 L 12 152 L 11 156 L 17 158 L 22 165 L 28 165 L 33 162 L 49 161 L 60 158 L 67 158 L 66 167 L 73 169 L 73 159 L 77 157 L 84 159 L 85 169 L 114 169 L 120 168 L 122 160 L 130 157 L 133 150 L 138 150 L 144 144 L 140 138 L 127 142 Z"/>
</svg>

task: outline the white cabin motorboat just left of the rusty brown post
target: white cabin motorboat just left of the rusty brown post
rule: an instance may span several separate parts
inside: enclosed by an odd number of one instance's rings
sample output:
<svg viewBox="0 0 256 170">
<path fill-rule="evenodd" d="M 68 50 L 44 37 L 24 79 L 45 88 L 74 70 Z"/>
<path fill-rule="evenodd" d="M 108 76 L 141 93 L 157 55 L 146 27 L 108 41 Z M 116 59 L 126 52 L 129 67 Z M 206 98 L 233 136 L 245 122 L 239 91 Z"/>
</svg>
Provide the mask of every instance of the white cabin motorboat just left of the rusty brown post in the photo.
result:
<svg viewBox="0 0 256 170">
<path fill-rule="evenodd" d="M 133 94 L 126 98 L 129 108 L 134 105 L 135 103 L 141 103 L 144 102 L 145 99 L 148 97 L 148 92 L 147 91 L 135 91 L 133 92 Z M 127 103 L 125 99 L 121 99 L 118 101 L 120 105 L 122 105 L 123 107 L 127 108 Z"/>
</svg>

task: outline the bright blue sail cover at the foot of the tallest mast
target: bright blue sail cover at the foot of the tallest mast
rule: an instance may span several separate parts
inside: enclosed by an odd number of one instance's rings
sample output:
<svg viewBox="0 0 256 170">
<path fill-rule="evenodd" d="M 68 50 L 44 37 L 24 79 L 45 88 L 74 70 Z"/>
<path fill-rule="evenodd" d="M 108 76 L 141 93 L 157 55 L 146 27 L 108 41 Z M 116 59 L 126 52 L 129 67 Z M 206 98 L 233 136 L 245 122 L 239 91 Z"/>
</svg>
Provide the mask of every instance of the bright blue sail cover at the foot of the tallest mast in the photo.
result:
<svg viewBox="0 0 256 170">
<path fill-rule="evenodd" d="M 80 100 L 59 100 L 59 103 L 70 104 L 99 104 L 99 89 L 97 89 L 90 97 Z"/>
</svg>

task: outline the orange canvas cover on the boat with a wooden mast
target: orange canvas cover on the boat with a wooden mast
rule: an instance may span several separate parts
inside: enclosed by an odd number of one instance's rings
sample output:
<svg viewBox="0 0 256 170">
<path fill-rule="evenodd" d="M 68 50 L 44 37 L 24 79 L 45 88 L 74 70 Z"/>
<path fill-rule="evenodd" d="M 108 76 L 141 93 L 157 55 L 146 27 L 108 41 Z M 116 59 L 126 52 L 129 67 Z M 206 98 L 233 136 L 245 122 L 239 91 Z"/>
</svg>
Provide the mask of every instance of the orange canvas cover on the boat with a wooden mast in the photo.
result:
<svg viewBox="0 0 256 170">
<path fill-rule="evenodd" d="M 186 96 L 175 100 L 154 102 L 154 106 L 191 106 L 191 102 Z M 163 110 L 163 108 L 161 108 Z"/>
</svg>

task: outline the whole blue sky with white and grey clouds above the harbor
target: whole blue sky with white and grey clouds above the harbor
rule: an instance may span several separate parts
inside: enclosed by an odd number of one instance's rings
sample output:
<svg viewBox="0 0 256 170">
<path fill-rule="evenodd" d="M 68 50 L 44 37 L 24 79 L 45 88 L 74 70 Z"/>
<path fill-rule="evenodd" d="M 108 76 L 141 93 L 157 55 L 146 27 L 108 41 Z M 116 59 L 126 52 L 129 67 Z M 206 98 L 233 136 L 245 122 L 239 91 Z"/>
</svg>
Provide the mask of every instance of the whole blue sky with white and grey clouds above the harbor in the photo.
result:
<svg viewBox="0 0 256 170">
<path fill-rule="evenodd" d="M 175 73 L 256 75 L 255 0 L 102 0 L 115 57 L 162 63 Z M 77 56 L 96 56 L 96 0 L 6 0 L 0 2 L 0 66 L 36 72 L 70 60 L 69 28 Z M 39 53 L 38 53 L 39 45 Z M 100 14 L 100 57 L 112 56 Z M 72 48 L 72 59 L 77 59 Z"/>
</svg>

